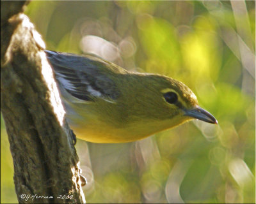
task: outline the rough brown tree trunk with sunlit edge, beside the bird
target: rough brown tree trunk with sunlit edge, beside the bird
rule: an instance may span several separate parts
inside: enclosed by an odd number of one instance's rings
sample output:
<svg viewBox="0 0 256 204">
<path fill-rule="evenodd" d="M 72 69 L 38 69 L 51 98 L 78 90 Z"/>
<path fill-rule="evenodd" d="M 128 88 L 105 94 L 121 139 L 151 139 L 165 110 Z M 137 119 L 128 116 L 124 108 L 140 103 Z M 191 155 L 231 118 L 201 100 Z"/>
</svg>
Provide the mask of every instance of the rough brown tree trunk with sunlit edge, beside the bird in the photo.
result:
<svg viewBox="0 0 256 204">
<path fill-rule="evenodd" d="M 22 13 L 25 4 L 1 1 L 1 112 L 17 198 L 19 203 L 84 203 L 72 134 L 44 41 Z"/>
</svg>

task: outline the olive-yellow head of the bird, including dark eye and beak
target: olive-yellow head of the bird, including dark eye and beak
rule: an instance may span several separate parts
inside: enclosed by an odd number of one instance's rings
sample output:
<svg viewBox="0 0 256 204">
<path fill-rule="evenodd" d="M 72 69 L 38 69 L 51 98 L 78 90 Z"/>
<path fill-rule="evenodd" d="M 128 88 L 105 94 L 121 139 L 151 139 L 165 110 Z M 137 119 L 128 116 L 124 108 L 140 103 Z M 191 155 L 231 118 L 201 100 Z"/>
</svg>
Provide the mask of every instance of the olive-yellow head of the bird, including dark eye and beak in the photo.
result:
<svg viewBox="0 0 256 204">
<path fill-rule="evenodd" d="M 130 103 L 133 104 L 133 112 L 140 115 L 140 119 L 162 120 L 166 123 L 164 129 L 191 119 L 218 123 L 211 113 L 200 108 L 193 91 L 182 82 L 163 75 L 141 74 L 140 77 L 143 79 L 136 78 L 136 81 L 141 83 L 130 84 L 134 86 L 132 90 L 137 94 L 133 94 L 135 97 L 129 99 L 130 102 L 133 101 Z M 131 87 L 129 89 L 131 90 Z"/>
</svg>

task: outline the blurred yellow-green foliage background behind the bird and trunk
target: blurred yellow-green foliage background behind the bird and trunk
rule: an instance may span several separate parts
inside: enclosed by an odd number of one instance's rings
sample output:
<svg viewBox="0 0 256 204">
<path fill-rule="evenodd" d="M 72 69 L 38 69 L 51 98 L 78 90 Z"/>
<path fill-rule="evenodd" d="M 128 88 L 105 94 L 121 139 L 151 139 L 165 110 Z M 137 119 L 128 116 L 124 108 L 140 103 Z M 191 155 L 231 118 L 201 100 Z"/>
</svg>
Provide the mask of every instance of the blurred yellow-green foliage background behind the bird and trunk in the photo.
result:
<svg viewBox="0 0 256 204">
<path fill-rule="evenodd" d="M 255 1 L 33 1 L 26 13 L 47 49 L 176 78 L 219 121 L 78 141 L 88 203 L 255 203 Z M 1 203 L 13 203 L 4 131 L 2 119 Z"/>
</svg>

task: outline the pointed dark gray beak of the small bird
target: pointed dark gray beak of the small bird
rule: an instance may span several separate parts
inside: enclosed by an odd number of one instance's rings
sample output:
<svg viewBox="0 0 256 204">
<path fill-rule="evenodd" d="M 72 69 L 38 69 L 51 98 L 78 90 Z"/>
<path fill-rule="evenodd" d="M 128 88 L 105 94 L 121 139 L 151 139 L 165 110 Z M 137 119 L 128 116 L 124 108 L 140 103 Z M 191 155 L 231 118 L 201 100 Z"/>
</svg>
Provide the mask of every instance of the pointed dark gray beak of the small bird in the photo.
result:
<svg viewBox="0 0 256 204">
<path fill-rule="evenodd" d="M 213 117 L 211 113 L 207 112 L 203 108 L 200 108 L 199 106 L 192 109 L 185 109 L 184 112 L 185 112 L 184 115 L 188 115 L 195 119 L 202 120 L 204 122 L 213 123 L 213 124 L 218 124 L 218 121 L 215 119 L 215 117 Z"/>
</svg>

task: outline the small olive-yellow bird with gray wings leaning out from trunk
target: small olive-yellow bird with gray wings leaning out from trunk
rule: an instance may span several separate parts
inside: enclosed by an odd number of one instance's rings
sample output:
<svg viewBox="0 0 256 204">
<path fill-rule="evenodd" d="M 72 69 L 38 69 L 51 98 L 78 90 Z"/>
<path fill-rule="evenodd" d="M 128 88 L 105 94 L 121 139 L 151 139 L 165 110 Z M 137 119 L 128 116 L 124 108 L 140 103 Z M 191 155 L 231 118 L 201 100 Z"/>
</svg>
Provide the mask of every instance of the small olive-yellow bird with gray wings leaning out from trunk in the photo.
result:
<svg viewBox="0 0 256 204">
<path fill-rule="evenodd" d="M 218 124 L 179 80 L 127 71 L 93 54 L 45 54 L 67 122 L 81 140 L 133 142 L 192 119 Z"/>
</svg>

